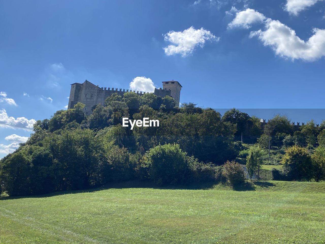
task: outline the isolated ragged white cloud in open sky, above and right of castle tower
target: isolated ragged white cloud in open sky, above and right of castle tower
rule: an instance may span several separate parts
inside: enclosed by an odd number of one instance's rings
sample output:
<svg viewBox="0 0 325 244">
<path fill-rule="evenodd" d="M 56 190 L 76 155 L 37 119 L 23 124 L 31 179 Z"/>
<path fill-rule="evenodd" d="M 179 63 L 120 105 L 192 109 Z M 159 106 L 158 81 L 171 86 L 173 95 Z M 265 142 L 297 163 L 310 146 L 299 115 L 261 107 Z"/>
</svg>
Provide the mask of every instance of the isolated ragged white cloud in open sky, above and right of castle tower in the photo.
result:
<svg viewBox="0 0 325 244">
<path fill-rule="evenodd" d="M 219 37 L 215 37 L 210 31 L 194 29 L 193 26 L 184 31 L 170 31 L 163 35 L 165 41 L 171 42 L 173 45 L 164 47 L 167 56 L 181 54 L 183 57 L 191 54 L 195 47 L 203 47 L 205 41 L 219 41 Z"/>
</svg>

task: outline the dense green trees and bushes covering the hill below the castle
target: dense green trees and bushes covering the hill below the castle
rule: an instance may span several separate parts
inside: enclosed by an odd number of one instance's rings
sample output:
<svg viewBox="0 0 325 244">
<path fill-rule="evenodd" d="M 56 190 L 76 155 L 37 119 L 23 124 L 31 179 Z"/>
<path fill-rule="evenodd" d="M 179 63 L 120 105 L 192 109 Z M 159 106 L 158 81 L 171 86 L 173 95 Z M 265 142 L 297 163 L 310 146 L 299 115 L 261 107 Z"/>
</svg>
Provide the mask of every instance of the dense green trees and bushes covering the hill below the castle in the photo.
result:
<svg viewBox="0 0 325 244">
<path fill-rule="evenodd" d="M 325 122 L 297 128 L 285 115 L 265 127 L 237 109 L 223 116 L 193 103 L 176 106 L 171 97 L 152 93 L 113 94 L 86 116 L 84 104 L 39 120 L 26 143 L 0 161 L 1 192 L 10 196 L 78 190 L 110 182 L 140 179 L 158 185 L 230 182 L 242 175 L 235 163 L 283 164 L 278 179 L 323 180 Z M 158 119 L 159 127 L 122 127 L 122 118 Z M 243 133 L 254 145 L 236 142 Z M 269 148 L 271 160 L 265 148 Z M 237 170 L 234 172 L 234 170 Z M 227 177 L 226 177 L 227 178 Z M 231 181 L 231 182 L 241 182 Z"/>
</svg>

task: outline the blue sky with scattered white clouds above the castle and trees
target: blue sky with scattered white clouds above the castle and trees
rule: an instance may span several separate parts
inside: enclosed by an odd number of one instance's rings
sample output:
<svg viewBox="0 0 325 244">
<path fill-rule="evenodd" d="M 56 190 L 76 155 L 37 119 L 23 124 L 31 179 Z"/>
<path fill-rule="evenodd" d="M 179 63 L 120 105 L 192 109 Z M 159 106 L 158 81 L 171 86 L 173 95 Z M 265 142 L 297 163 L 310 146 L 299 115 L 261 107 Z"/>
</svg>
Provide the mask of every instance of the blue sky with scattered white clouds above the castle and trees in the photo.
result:
<svg viewBox="0 0 325 244">
<path fill-rule="evenodd" d="M 0 158 L 86 79 L 174 79 L 180 102 L 215 109 L 324 109 L 322 0 L 1 1 L 0 33 Z"/>
</svg>

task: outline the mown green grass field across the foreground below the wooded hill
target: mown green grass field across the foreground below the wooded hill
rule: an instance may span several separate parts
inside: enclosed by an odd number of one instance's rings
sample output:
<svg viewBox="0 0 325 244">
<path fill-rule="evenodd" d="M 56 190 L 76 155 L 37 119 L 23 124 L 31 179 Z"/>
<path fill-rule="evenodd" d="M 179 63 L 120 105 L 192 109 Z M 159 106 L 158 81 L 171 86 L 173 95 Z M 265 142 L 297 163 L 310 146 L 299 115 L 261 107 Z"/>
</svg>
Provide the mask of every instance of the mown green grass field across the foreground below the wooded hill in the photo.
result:
<svg viewBox="0 0 325 244">
<path fill-rule="evenodd" d="M 0 243 L 325 243 L 325 183 L 109 187 L 0 198 Z"/>
</svg>

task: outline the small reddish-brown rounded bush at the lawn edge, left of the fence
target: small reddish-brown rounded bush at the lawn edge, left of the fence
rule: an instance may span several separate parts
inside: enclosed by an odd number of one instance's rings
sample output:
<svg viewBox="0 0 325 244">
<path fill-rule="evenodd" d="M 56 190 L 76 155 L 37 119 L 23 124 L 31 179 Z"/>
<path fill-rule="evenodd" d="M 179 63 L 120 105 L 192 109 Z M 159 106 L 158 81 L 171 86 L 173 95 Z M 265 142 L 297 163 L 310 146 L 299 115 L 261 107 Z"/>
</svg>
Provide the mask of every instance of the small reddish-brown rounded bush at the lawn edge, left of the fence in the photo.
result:
<svg viewBox="0 0 325 244">
<path fill-rule="evenodd" d="M 239 163 L 227 161 L 223 167 L 222 175 L 230 185 L 235 186 L 245 181 L 244 169 Z"/>
</svg>

